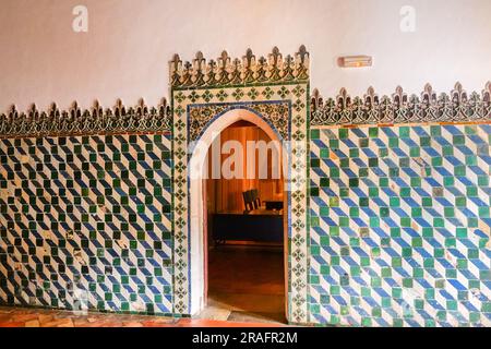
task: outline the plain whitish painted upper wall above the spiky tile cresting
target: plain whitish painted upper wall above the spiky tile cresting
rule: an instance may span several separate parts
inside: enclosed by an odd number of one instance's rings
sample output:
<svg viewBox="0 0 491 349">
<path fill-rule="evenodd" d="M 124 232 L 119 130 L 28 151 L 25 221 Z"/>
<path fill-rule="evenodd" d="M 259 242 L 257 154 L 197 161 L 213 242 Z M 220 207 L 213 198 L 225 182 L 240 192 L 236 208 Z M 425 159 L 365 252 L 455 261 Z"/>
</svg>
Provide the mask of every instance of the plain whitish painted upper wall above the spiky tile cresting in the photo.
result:
<svg viewBox="0 0 491 349">
<path fill-rule="evenodd" d="M 72 9 L 89 11 L 86 34 L 72 31 Z M 416 8 L 416 33 L 399 29 L 399 10 Z M 420 93 L 455 81 L 480 92 L 491 80 L 490 0 L 0 0 L 0 111 L 51 101 L 84 107 L 118 97 L 151 105 L 168 95 L 168 61 L 197 50 L 242 56 L 304 44 L 312 86 L 391 94 Z M 343 70 L 339 55 L 372 55 L 371 69 Z"/>
</svg>

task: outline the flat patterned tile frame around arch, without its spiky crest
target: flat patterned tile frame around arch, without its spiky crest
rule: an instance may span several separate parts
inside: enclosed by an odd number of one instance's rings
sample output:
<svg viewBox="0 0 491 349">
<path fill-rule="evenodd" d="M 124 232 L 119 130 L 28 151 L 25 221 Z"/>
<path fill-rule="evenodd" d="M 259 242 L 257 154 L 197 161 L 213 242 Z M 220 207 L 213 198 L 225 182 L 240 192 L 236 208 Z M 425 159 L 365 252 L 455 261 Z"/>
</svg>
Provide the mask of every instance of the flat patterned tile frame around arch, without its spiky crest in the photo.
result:
<svg viewBox="0 0 491 349">
<path fill-rule="evenodd" d="M 173 91 L 173 108 L 187 110 L 176 116 L 173 139 L 175 151 L 175 309 L 179 313 L 190 312 L 190 261 L 189 185 L 188 185 L 188 144 L 200 139 L 203 131 L 213 127 L 221 115 L 233 109 L 250 110 L 265 120 L 279 134 L 283 141 L 294 141 L 295 154 L 290 158 L 294 168 L 300 171 L 291 183 L 290 207 L 307 207 L 307 141 L 308 141 L 308 83 L 270 84 L 263 86 L 242 86 L 208 88 L 213 91 L 204 104 L 193 103 L 193 93 L 204 89 Z M 295 91 L 294 95 L 292 91 Z M 213 95 L 213 96 L 212 96 Z M 235 100 L 224 103 L 219 95 L 233 96 Z M 240 100 L 240 101 L 239 101 Z M 292 106 L 296 105 L 294 108 Z M 294 121 L 295 120 L 295 121 Z M 182 140 L 182 142 L 181 142 Z M 184 141 L 187 140 L 187 141 Z M 302 151 L 303 149 L 303 151 Z M 176 181 L 176 179 L 178 181 Z M 307 210 L 292 215 L 289 224 L 291 249 L 289 316 L 291 322 L 308 322 L 308 228 Z"/>
</svg>

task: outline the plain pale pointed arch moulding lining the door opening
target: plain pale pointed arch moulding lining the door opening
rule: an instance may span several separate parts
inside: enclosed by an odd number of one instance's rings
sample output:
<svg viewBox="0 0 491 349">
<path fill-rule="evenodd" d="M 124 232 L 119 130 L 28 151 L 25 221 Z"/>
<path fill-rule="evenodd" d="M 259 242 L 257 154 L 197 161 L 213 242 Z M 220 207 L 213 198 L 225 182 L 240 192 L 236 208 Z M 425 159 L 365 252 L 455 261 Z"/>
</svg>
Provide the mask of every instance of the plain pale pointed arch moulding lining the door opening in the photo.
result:
<svg viewBox="0 0 491 349">
<path fill-rule="evenodd" d="M 212 147 L 213 142 L 218 135 L 238 121 L 250 122 L 262 131 L 267 136 L 276 141 L 276 145 L 280 146 L 282 136 L 264 118 L 247 108 L 229 110 L 223 115 L 215 117 L 215 119 L 206 127 L 200 139 L 192 145 L 190 149 L 191 158 L 189 161 L 189 196 L 190 196 L 190 263 L 191 263 L 191 310 L 192 314 L 200 313 L 206 303 L 206 207 L 204 196 L 204 181 L 203 178 L 207 171 L 207 154 Z M 283 161 L 284 168 L 288 168 L 289 159 L 286 156 L 287 152 L 277 149 L 278 154 L 285 154 Z M 285 296 L 288 294 L 288 221 L 289 221 L 289 193 L 284 195 L 284 265 L 285 265 Z M 285 297 L 285 314 L 288 316 L 288 298 Z"/>
</svg>

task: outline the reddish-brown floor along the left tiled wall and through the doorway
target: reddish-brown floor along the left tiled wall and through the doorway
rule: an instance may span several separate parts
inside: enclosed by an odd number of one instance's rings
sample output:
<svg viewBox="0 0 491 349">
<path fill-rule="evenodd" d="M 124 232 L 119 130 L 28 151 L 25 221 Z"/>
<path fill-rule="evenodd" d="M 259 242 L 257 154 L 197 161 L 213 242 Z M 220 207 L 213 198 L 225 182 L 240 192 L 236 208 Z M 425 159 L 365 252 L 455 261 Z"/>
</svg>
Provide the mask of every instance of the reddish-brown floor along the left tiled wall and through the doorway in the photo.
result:
<svg viewBox="0 0 491 349">
<path fill-rule="evenodd" d="M 0 308 L 0 327 L 276 327 L 284 326 L 279 249 L 220 246 L 209 252 L 208 306 L 195 318 L 79 315 L 70 311 Z"/>
</svg>

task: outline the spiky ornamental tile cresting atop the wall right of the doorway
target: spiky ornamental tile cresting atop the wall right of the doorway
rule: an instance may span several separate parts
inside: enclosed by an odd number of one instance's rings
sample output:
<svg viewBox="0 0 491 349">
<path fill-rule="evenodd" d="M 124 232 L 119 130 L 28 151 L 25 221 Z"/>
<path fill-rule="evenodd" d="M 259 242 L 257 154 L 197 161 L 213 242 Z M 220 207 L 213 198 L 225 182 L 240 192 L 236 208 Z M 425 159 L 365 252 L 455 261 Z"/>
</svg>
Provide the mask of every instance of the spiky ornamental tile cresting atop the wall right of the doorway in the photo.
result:
<svg viewBox="0 0 491 349">
<path fill-rule="evenodd" d="M 491 83 L 479 95 L 468 94 L 460 83 L 440 96 L 427 84 L 421 96 L 408 96 L 399 86 L 391 96 L 379 97 L 370 87 L 363 97 L 351 97 L 342 88 L 336 98 L 319 91 L 311 98 L 312 125 L 396 124 L 426 122 L 491 121 Z"/>
</svg>

